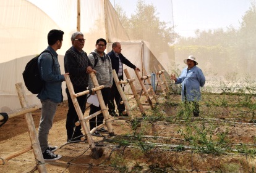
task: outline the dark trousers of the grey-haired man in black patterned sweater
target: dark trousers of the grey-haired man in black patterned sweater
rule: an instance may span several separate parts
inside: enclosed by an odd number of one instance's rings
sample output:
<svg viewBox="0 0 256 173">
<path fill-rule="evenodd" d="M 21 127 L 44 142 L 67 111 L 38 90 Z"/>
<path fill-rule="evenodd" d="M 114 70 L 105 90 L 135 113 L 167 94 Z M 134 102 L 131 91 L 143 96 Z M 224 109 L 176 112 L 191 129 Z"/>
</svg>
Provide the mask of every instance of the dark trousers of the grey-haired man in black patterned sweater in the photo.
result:
<svg viewBox="0 0 256 173">
<path fill-rule="evenodd" d="M 85 91 L 86 89 L 77 89 L 74 87 L 75 93 Z M 69 94 L 69 90 L 66 88 L 67 93 L 67 102 L 69 105 L 69 110 L 67 111 L 67 119 L 66 119 L 66 129 L 67 129 L 67 139 L 72 139 L 74 137 L 78 137 L 82 135 L 81 126 L 75 126 L 75 122 L 79 121 L 79 117 L 77 116 L 77 111 L 75 111 L 74 104 Z M 87 94 L 77 97 L 77 102 L 82 110 L 82 113 L 85 113 L 85 107 L 87 102 Z M 74 131 L 75 127 L 75 131 Z M 74 135 L 73 135 L 74 133 Z M 72 137 L 73 136 L 73 137 Z"/>
</svg>

